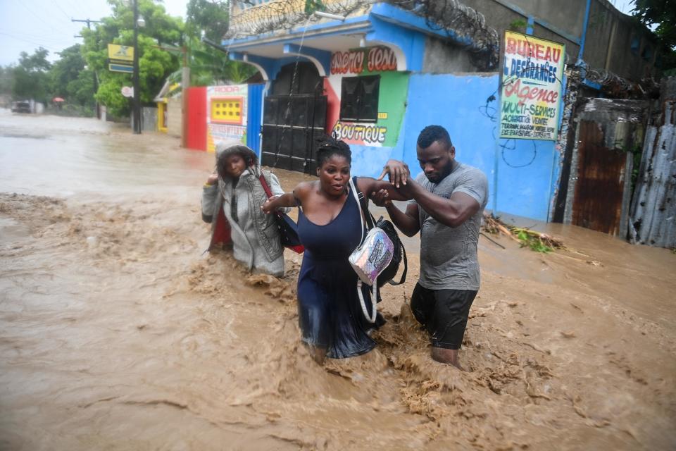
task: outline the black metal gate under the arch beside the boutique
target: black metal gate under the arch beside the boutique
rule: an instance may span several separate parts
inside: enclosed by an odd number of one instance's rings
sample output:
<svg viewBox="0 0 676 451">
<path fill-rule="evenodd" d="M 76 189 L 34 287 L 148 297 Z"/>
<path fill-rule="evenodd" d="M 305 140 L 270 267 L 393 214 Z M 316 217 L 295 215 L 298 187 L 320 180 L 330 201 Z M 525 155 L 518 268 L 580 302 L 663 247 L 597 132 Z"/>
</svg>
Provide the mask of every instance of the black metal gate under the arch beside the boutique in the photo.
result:
<svg viewBox="0 0 676 451">
<path fill-rule="evenodd" d="M 315 173 L 317 138 L 326 127 L 326 101 L 326 96 L 317 94 L 266 97 L 261 163 Z"/>
</svg>

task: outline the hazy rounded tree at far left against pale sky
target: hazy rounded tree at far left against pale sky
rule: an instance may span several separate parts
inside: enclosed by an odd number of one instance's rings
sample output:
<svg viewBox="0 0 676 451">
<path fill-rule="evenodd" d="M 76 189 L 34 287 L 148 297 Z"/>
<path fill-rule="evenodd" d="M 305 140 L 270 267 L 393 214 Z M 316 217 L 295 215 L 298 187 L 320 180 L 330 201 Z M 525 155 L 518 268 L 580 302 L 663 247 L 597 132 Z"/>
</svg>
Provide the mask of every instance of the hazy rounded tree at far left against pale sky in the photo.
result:
<svg viewBox="0 0 676 451">
<path fill-rule="evenodd" d="M 32 55 L 22 51 L 19 65 L 13 68 L 12 97 L 15 100 L 35 99 L 46 104 L 49 100 L 49 51 L 39 47 Z"/>
</svg>

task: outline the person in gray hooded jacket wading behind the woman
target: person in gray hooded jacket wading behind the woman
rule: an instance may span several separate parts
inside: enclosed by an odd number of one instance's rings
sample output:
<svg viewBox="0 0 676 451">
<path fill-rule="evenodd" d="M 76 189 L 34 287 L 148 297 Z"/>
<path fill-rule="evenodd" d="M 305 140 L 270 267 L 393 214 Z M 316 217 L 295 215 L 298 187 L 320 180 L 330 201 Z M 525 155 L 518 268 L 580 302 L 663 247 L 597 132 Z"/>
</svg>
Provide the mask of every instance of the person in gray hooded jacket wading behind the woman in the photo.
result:
<svg viewBox="0 0 676 451">
<path fill-rule="evenodd" d="M 215 173 L 202 189 L 202 219 L 211 223 L 210 250 L 215 236 L 229 226 L 235 259 L 249 271 L 283 276 L 284 248 L 279 230 L 273 215 L 261 211 L 268 200 L 258 179 L 261 173 L 274 196 L 284 194 L 277 177 L 258 166 L 253 150 L 242 144 L 218 144 Z"/>
</svg>

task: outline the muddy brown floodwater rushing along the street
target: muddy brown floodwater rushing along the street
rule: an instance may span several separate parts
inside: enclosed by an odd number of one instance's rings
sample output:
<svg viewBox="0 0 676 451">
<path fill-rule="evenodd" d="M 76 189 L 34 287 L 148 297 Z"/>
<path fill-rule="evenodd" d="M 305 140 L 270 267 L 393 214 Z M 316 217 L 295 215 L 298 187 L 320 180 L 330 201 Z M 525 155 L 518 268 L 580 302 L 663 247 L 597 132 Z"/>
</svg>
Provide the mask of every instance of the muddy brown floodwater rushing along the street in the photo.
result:
<svg viewBox="0 0 676 451">
<path fill-rule="evenodd" d="M 0 449 L 676 448 L 669 249 L 534 222 L 567 249 L 480 237 L 463 373 L 408 309 L 407 240 L 377 348 L 321 367 L 299 341 L 300 257 L 277 279 L 204 253 L 213 154 L 179 144 L 0 110 Z"/>
</svg>

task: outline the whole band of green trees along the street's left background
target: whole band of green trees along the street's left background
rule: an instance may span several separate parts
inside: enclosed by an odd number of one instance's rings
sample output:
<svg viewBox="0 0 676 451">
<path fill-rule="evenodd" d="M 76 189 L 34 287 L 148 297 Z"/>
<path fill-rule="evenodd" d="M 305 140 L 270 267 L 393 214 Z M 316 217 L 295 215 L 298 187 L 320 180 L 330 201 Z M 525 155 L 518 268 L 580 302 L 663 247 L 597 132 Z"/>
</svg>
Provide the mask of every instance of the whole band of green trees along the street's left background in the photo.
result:
<svg viewBox="0 0 676 451">
<path fill-rule="evenodd" d="M 256 73 L 253 66 L 230 61 L 223 49 L 201 41 L 201 34 L 220 43 L 227 31 L 228 1 L 189 0 L 187 22 L 168 16 L 161 0 L 138 0 L 139 16 L 146 25 L 139 28 L 139 82 L 143 104 L 154 104 L 165 80 L 181 81 L 183 58 L 191 72 L 191 85 L 218 85 L 243 82 Z M 123 97 L 123 86 L 132 85 L 130 73 L 108 70 L 108 44 L 133 44 L 134 13 L 130 0 L 108 0 L 111 16 L 91 30 L 82 29 L 83 44 L 63 49 L 54 64 L 49 52 L 39 48 L 22 52 L 18 64 L 0 66 L 0 94 L 13 99 L 35 99 L 49 104 L 62 97 L 66 104 L 91 107 L 94 98 L 106 105 L 112 116 L 127 116 L 131 100 Z M 185 53 L 185 54 L 184 54 Z M 96 92 L 94 77 L 99 80 Z"/>
</svg>

